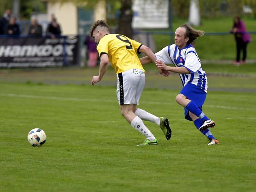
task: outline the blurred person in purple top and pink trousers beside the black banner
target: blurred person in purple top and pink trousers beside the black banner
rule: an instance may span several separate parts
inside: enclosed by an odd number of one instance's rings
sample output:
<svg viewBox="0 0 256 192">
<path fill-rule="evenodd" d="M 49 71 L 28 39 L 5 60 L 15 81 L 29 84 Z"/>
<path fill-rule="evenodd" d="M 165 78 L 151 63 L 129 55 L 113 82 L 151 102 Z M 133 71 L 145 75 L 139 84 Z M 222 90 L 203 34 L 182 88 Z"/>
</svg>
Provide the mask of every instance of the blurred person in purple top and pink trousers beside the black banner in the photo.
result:
<svg viewBox="0 0 256 192">
<path fill-rule="evenodd" d="M 95 67 L 97 65 L 98 52 L 97 52 L 97 44 L 94 42 L 94 39 L 90 36 L 86 36 L 84 45 L 87 46 L 88 50 L 88 67 Z"/>
</svg>

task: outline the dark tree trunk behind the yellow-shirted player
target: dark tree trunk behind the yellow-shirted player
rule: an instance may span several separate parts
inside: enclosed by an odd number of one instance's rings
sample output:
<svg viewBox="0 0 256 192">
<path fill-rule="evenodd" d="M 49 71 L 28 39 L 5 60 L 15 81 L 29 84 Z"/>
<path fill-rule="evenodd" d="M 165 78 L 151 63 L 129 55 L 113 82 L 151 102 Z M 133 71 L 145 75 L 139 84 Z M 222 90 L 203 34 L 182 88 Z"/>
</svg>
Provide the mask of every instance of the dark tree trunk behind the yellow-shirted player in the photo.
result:
<svg viewBox="0 0 256 192">
<path fill-rule="evenodd" d="M 132 0 L 120 0 L 121 9 L 117 33 L 132 38 Z"/>
</svg>

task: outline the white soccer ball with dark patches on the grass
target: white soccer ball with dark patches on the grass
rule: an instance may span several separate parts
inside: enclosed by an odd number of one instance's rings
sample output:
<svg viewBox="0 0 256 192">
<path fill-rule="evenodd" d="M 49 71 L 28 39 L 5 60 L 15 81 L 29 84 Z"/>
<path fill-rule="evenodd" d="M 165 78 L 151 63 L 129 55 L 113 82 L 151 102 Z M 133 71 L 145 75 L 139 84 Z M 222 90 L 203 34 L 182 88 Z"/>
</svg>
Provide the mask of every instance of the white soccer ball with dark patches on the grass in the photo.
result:
<svg viewBox="0 0 256 192">
<path fill-rule="evenodd" d="M 34 147 L 43 145 L 45 141 L 46 135 L 42 129 L 35 128 L 28 133 L 28 142 Z"/>
</svg>

